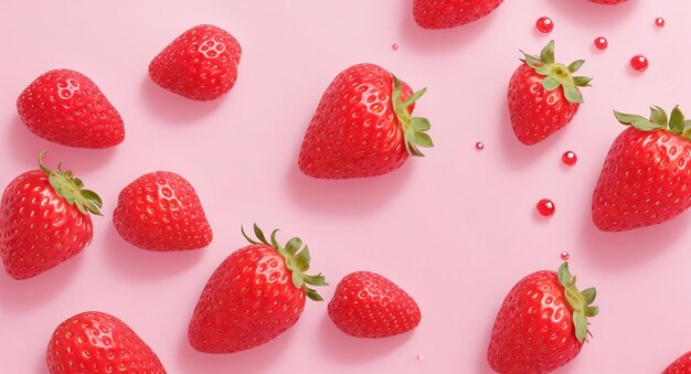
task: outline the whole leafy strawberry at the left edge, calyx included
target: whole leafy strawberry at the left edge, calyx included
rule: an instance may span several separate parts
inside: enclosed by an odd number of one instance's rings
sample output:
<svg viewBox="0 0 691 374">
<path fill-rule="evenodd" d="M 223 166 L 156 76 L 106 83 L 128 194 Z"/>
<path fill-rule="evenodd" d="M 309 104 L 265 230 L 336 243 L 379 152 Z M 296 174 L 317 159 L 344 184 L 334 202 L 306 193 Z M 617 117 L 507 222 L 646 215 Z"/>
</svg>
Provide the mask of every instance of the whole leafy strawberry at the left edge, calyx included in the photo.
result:
<svg viewBox="0 0 691 374">
<path fill-rule="evenodd" d="M 92 242 L 89 213 L 100 215 L 102 201 L 72 171 L 40 170 L 17 177 L 0 204 L 0 250 L 14 279 L 38 276 L 77 255 Z"/>
</svg>

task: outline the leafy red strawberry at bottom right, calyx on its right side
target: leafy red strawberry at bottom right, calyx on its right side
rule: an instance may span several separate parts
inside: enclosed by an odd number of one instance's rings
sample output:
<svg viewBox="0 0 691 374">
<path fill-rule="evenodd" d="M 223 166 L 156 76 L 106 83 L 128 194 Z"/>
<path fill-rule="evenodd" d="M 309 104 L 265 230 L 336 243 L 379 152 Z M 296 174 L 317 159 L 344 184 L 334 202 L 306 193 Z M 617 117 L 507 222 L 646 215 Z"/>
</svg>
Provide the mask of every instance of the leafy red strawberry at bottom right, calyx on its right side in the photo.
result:
<svg viewBox="0 0 691 374">
<path fill-rule="evenodd" d="M 564 263 L 554 271 L 521 279 L 499 309 L 487 351 L 490 367 L 502 374 L 549 373 L 572 361 L 588 335 L 596 291 L 578 291 Z"/>
</svg>

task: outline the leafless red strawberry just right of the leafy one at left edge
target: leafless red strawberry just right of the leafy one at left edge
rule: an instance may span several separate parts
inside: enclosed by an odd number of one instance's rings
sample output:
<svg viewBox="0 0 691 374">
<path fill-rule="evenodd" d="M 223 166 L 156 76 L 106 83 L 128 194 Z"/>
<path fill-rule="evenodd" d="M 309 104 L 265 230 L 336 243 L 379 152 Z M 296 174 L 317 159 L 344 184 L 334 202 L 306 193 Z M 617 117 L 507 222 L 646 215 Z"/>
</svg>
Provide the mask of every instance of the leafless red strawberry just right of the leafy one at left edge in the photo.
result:
<svg viewBox="0 0 691 374">
<path fill-rule="evenodd" d="M 199 249 L 213 238 L 192 184 L 168 171 L 129 183 L 118 196 L 113 223 L 127 242 L 150 250 Z"/>
</svg>

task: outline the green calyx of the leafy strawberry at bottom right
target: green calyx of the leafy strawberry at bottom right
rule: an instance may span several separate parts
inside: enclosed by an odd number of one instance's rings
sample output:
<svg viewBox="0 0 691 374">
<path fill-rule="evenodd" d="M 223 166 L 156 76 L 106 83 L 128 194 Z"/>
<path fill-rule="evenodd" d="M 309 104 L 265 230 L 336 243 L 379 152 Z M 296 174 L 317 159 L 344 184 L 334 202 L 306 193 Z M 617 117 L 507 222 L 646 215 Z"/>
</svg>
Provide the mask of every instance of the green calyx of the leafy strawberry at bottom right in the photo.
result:
<svg viewBox="0 0 691 374">
<path fill-rule="evenodd" d="M 559 278 L 559 282 L 564 286 L 564 297 L 573 309 L 572 319 L 576 331 L 576 339 L 580 343 L 583 343 L 588 335 L 587 319 L 597 316 L 599 312 L 599 308 L 591 306 L 593 301 L 595 301 L 597 291 L 593 287 L 578 291 L 578 288 L 576 288 L 576 277 L 572 276 L 568 271 L 567 261 L 560 266 L 556 271 L 556 277 Z"/>
</svg>

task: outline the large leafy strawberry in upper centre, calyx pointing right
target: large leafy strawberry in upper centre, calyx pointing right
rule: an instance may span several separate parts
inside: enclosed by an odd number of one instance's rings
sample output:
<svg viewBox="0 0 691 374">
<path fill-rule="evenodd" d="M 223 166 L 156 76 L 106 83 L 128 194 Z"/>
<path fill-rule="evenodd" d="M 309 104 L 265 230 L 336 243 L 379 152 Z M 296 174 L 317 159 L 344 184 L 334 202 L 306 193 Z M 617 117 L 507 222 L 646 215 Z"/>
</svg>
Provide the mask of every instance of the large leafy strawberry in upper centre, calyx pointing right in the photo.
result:
<svg viewBox="0 0 691 374">
<path fill-rule="evenodd" d="M 374 177 L 398 169 L 417 147 L 432 147 L 426 118 L 411 117 L 416 92 L 384 68 L 359 64 L 340 73 L 312 117 L 298 164 L 315 178 Z"/>
</svg>

